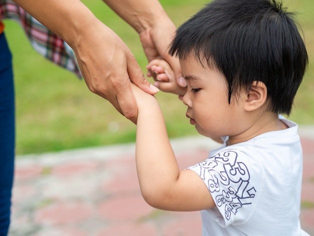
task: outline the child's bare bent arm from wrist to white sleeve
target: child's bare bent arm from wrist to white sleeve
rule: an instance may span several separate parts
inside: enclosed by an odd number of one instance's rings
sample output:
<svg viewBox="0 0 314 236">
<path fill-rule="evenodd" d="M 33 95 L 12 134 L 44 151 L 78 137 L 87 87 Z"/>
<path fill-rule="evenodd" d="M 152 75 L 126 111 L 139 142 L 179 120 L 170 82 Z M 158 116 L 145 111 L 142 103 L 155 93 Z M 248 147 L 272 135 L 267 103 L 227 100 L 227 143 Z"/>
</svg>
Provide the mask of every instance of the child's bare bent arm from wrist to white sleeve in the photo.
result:
<svg viewBox="0 0 314 236">
<path fill-rule="evenodd" d="M 145 201 L 176 211 L 215 206 L 200 176 L 192 170 L 179 170 L 158 101 L 135 85 L 132 89 L 138 106 L 136 168 Z"/>
</svg>

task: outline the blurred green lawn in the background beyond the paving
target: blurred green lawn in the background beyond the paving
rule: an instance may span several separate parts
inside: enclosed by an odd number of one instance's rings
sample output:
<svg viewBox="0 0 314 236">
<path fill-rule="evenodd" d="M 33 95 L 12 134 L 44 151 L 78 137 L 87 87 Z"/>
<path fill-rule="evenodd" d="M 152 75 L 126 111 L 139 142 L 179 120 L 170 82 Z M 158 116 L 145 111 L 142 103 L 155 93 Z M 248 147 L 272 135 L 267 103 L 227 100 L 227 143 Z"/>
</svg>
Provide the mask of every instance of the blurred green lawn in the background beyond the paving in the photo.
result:
<svg viewBox="0 0 314 236">
<path fill-rule="evenodd" d="M 82 2 L 123 39 L 146 73 L 147 60 L 137 33 L 101 1 Z M 208 1 L 160 2 L 179 26 Z M 298 20 L 304 31 L 310 61 L 290 119 L 300 125 L 313 124 L 314 4 L 311 0 L 283 2 L 290 10 L 301 13 Z M 14 55 L 18 155 L 135 141 L 135 126 L 108 101 L 91 93 L 84 81 L 38 55 L 17 23 L 6 20 L 5 24 Z M 160 92 L 157 97 L 165 114 L 170 137 L 197 135 L 185 117 L 186 107 L 177 96 Z"/>
</svg>

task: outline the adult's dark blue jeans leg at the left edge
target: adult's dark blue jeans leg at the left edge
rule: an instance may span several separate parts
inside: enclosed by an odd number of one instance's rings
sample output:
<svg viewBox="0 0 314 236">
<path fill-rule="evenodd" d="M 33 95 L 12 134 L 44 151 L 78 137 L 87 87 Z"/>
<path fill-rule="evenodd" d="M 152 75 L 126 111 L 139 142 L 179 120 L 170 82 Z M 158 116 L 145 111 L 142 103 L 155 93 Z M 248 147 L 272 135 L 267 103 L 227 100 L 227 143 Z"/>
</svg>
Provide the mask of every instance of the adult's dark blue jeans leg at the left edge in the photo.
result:
<svg viewBox="0 0 314 236">
<path fill-rule="evenodd" d="M 0 235 L 8 234 L 15 157 L 15 99 L 12 56 L 0 34 Z"/>
</svg>

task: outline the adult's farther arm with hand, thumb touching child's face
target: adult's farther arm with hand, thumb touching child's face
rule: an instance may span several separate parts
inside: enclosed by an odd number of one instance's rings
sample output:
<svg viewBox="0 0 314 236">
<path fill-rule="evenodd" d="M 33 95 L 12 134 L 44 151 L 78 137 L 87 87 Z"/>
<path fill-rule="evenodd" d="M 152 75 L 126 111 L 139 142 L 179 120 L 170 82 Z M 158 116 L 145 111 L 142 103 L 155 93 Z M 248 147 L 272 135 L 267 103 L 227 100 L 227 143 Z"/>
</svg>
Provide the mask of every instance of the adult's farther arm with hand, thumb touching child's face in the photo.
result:
<svg viewBox="0 0 314 236">
<path fill-rule="evenodd" d="M 148 61 L 157 58 L 165 59 L 175 72 L 177 84 L 186 87 L 179 59 L 171 57 L 168 53 L 168 45 L 172 41 L 177 28 L 160 2 L 158 0 L 103 1 L 136 30 Z M 148 71 L 148 75 L 152 76 L 150 71 Z"/>
</svg>

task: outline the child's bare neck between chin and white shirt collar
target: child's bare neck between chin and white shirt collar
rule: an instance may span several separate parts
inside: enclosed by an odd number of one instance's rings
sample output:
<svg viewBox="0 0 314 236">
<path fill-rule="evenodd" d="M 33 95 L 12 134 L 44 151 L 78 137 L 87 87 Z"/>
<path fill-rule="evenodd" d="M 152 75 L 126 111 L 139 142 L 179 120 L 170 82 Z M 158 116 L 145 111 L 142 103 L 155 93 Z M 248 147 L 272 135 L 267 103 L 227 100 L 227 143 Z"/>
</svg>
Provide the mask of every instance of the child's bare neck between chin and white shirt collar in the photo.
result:
<svg viewBox="0 0 314 236">
<path fill-rule="evenodd" d="M 267 132 L 285 130 L 287 128 L 288 126 L 279 120 L 278 114 L 265 112 L 261 116 L 256 116 L 256 119 L 251 120 L 241 134 L 229 136 L 228 146 L 248 141 Z"/>
</svg>

